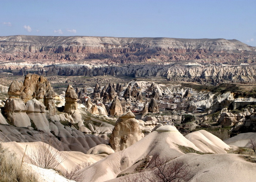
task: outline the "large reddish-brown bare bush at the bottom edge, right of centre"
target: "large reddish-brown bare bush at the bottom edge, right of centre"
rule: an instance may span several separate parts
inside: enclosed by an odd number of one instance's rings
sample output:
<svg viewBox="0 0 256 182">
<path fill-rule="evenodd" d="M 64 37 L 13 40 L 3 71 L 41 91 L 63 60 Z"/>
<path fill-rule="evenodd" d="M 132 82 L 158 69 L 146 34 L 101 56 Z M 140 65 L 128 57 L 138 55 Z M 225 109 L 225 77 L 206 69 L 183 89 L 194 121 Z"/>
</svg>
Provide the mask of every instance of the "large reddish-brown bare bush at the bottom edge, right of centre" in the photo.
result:
<svg viewBox="0 0 256 182">
<path fill-rule="evenodd" d="M 181 182 L 188 181 L 190 168 L 184 162 L 174 161 L 169 157 L 153 155 L 146 170 L 136 177 L 125 178 L 127 182 Z"/>
</svg>

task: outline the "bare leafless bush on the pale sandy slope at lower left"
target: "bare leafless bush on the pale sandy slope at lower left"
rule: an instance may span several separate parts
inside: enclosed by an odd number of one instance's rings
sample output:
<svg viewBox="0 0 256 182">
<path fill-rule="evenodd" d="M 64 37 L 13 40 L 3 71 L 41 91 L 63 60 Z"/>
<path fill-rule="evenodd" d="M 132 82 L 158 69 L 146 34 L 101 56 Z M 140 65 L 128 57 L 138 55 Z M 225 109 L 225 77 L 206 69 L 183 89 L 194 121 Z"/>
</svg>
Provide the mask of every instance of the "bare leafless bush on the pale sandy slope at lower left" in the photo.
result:
<svg viewBox="0 0 256 182">
<path fill-rule="evenodd" d="M 30 162 L 41 168 L 56 169 L 60 163 L 65 161 L 67 154 L 59 152 L 62 144 L 56 145 L 52 138 L 48 138 L 47 143 L 42 138 L 42 145 L 37 146 L 34 150 L 30 150 L 30 155 L 28 155 Z"/>
</svg>

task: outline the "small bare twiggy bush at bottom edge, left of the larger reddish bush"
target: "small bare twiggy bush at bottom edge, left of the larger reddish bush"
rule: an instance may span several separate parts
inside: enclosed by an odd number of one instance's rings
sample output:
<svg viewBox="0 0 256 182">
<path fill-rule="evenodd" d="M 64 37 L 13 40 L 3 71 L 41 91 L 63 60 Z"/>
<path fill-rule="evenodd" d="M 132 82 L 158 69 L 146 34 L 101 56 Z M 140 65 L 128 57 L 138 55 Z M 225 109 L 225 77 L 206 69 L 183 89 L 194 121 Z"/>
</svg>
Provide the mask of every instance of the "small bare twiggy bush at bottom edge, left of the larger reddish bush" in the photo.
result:
<svg viewBox="0 0 256 182">
<path fill-rule="evenodd" d="M 90 166 L 90 165 L 91 165 L 90 162 L 84 162 L 84 163 L 81 163 L 79 165 L 76 165 L 76 166 L 72 167 L 72 169 L 70 171 L 66 170 L 64 172 L 64 177 L 67 178 L 67 179 L 70 179 L 70 180 L 80 182 L 84 179 L 84 175 L 83 175 L 83 173 L 79 173 L 78 171 L 80 169 L 83 169 L 83 168 L 85 168 L 87 166 Z"/>
</svg>

